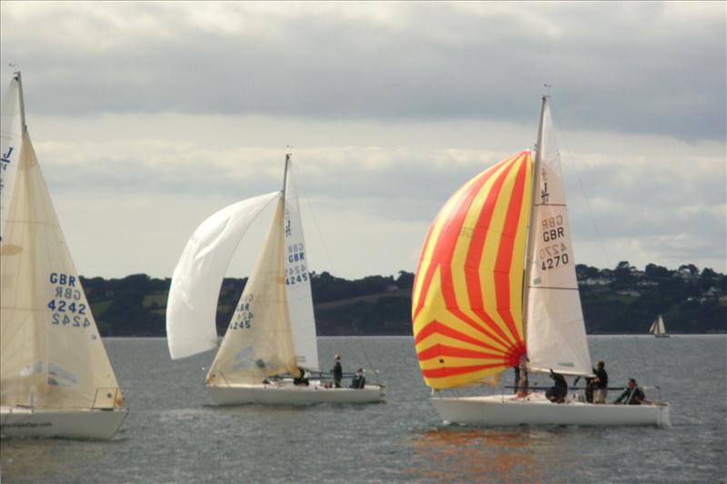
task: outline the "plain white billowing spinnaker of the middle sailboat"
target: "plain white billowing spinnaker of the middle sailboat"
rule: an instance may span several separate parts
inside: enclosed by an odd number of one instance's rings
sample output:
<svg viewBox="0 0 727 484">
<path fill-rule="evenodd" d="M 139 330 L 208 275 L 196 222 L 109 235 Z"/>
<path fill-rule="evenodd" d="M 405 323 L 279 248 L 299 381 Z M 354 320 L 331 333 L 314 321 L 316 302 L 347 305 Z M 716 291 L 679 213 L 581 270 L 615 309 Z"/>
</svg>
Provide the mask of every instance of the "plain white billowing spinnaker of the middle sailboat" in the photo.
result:
<svg viewBox="0 0 727 484">
<path fill-rule="evenodd" d="M 166 338 L 173 360 L 217 346 L 217 300 L 234 251 L 257 215 L 280 192 L 237 202 L 194 231 L 179 258 L 166 303 Z"/>
</svg>

